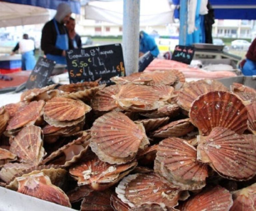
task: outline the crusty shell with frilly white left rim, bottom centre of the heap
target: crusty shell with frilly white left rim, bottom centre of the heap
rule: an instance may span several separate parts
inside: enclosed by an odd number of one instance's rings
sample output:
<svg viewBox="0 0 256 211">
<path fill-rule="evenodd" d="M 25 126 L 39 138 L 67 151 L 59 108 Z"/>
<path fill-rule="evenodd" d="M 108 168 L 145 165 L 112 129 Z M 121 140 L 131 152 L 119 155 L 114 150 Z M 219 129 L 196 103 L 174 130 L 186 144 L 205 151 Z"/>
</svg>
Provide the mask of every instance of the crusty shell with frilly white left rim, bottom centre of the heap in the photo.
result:
<svg viewBox="0 0 256 211">
<path fill-rule="evenodd" d="M 116 188 L 117 197 L 130 207 L 145 202 L 164 203 L 168 207 L 178 204 L 181 191 L 155 173 L 130 174 L 124 177 Z"/>
</svg>

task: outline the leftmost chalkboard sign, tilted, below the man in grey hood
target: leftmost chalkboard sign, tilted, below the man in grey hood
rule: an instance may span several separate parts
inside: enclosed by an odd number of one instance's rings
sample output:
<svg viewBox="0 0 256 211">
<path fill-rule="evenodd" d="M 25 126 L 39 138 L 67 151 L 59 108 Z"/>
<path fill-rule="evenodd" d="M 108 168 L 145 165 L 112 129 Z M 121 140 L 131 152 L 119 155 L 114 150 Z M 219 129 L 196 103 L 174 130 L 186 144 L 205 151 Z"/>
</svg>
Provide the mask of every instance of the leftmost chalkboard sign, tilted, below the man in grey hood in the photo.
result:
<svg viewBox="0 0 256 211">
<path fill-rule="evenodd" d="M 28 78 L 26 88 L 33 89 L 45 87 L 54 66 L 54 61 L 39 57 L 36 66 L 34 67 Z"/>
</svg>

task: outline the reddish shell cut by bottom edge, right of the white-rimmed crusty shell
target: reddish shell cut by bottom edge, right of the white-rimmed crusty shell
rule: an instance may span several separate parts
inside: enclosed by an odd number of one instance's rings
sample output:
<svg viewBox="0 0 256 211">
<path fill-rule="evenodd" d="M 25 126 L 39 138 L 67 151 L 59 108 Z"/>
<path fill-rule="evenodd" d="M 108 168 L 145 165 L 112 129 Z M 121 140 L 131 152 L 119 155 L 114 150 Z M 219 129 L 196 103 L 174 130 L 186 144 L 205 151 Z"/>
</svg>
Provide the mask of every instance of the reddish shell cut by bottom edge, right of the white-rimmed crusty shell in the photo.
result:
<svg viewBox="0 0 256 211">
<path fill-rule="evenodd" d="M 202 191 L 181 207 L 181 211 L 228 211 L 232 206 L 232 195 L 223 187 L 216 186 L 214 188 Z"/>
</svg>

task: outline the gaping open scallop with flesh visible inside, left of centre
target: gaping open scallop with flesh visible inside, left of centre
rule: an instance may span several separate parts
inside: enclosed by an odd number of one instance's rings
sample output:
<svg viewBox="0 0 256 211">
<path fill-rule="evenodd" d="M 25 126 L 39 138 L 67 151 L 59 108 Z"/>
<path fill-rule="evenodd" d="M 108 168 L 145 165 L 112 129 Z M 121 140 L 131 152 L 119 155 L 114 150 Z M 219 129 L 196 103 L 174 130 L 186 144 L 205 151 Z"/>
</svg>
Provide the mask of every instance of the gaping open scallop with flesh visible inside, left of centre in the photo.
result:
<svg viewBox="0 0 256 211">
<path fill-rule="evenodd" d="M 41 164 L 56 164 L 67 167 L 77 162 L 89 147 L 90 135 L 82 136 L 51 153 Z"/>
</svg>

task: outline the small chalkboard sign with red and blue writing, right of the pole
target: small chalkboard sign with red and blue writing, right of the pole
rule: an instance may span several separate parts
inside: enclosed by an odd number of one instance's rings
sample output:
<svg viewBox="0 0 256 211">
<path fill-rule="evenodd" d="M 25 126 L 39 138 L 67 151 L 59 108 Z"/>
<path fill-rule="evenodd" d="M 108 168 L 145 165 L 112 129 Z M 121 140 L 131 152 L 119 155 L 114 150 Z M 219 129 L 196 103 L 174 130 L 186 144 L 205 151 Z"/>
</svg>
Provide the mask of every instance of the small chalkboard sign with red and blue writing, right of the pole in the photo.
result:
<svg viewBox="0 0 256 211">
<path fill-rule="evenodd" d="M 194 46 L 176 45 L 172 54 L 172 60 L 190 64 L 195 53 Z"/>
</svg>

